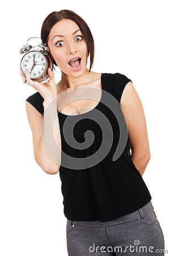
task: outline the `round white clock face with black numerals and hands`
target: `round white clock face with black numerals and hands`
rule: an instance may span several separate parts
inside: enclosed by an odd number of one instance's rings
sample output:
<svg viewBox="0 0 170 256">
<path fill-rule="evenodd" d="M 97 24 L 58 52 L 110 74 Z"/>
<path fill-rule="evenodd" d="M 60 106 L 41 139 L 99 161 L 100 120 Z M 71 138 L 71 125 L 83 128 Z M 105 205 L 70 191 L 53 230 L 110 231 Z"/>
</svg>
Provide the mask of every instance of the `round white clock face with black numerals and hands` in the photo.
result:
<svg viewBox="0 0 170 256">
<path fill-rule="evenodd" d="M 46 71 L 46 58 L 39 51 L 27 52 L 21 61 L 21 69 L 25 74 L 29 70 L 31 79 L 36 79 Z"/>
</svg>

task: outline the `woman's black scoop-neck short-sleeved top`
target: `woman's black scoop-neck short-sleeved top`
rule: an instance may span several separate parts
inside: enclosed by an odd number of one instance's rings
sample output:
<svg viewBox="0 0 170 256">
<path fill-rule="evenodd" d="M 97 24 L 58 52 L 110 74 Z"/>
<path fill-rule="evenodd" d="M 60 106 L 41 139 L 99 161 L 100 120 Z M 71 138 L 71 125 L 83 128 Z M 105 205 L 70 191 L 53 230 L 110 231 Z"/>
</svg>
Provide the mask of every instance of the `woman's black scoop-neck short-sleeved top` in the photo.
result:
<svg viewBox="0 0 170 256">
<path fill-rule="evenodd" d="M 80 115 L 58 112 L 62 143 L 59 175 L 64 214 L 69 220 L 109 221 L 133 212 L 151 200 L 146 184 L 131 160 L 128 137 L 124 136 L 127 130 L 121 119 L 120 100 L 129 81 L 120 73 L 102 73 L 102 96 L 94 109 Z M 44 98 L 39 92 L 27 101 L 43 115 Z M 69 129 L 64 129 L 65 121 Z M 63 136 L 65 132 L 70 138 L 71 128 L 79 147 L 74 147 L 75 144 L 71 147 Z M 113 159 L 119 142 L 124 147 L 118 158 Z M 81 144 L 86 147 L 81 149 Z M 72 157 L 72 160 L 65 156 Z M 75 158 L 80 162 L 75 162 Z"/>
</svg>

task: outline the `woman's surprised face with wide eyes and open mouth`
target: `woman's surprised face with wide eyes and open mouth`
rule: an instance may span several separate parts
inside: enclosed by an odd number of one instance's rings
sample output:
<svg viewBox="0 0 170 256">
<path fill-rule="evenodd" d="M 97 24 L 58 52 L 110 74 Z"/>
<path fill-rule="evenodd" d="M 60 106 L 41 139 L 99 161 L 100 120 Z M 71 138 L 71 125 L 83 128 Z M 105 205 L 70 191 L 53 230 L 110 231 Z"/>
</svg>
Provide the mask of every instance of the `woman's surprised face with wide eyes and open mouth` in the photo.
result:
<svg viewBox="0 0 170 256">
<path fill-rule="evenodd" d="M 78 25 L 70 19 L 57 22 L 49 33 L 48 46 L 58 67 L 71 77 L 86 71 L 87 44 Z"/>
</svg>

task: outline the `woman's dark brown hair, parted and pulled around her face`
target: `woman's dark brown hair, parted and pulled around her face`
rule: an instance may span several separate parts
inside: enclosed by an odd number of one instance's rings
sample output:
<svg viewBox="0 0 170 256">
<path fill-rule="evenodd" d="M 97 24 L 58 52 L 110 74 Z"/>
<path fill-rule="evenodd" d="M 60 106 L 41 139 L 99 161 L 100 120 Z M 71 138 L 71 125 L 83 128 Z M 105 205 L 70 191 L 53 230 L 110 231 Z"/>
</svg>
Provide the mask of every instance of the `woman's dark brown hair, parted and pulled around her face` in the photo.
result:
<svg viewBox="0 0 170 256">
<path fill-rule="evenodd" d="M 86 41 L 86 44 L 87 44 L 88 55 L 90 54 L 90 71 L 91 71 L 91 68 L 94 62 L 94 38 L 86 22 L 84 22 L 84 20 L 79 15 L 75 14 L 73 11 L 70 11 L 70 10 L 53 11 L 53 13 L 50 13 L 46 17 L 46 19 L 42 23 L 42 28 L 41 28 L 42 43 L 48 46 L 49 32 L 54 26 L 54 24 L 56 24 L 61 19 L 71 19 L 80 28 L 80 31 L 82 32 L 84 36 L 84 40 Z M 57 65 L 55 61 L 54 61 L 54 64 Z"/>
</svg>

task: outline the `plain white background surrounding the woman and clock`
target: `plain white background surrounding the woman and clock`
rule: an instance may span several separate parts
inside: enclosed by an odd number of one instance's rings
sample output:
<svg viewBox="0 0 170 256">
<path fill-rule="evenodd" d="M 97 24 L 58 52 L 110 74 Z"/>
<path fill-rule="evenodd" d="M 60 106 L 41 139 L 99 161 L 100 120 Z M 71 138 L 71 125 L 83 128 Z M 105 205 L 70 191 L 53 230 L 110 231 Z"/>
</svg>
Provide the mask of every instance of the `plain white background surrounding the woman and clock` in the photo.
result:
<svg viewBox="0 0 170 256">
<path fill-rule="evenodd" d="M 20 48 L 29 37 L 40 36 L 48 14 L 62 9 L 75 11 L 91 28 L 93 71 L 128 76 L 141 97 L 151 151 L 143 179 L 164 233 L 165 249 L 170 251 L 168 5 L 164 0 L 3 3 L 0 255 L 67 255 L 61 181 L 59 174 L 45 174 L 33 158 L 25 100 L 36 91 L 19 75 Z"/>
</svg>

